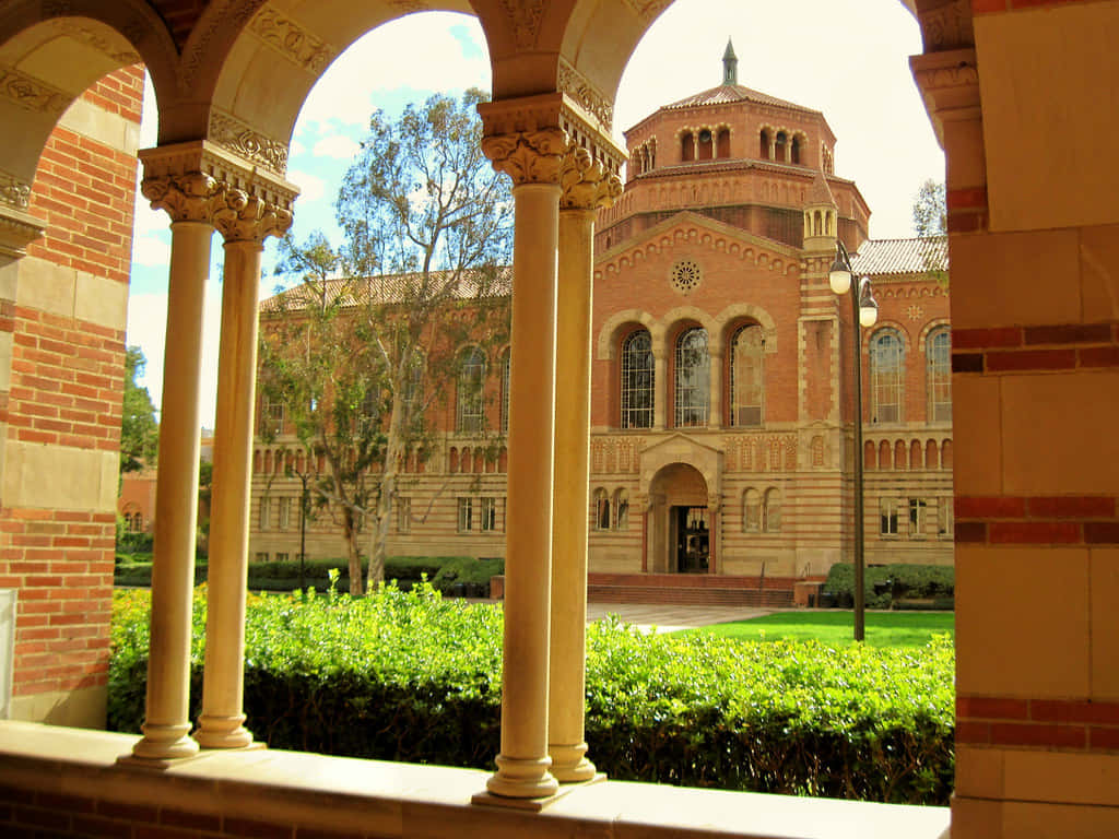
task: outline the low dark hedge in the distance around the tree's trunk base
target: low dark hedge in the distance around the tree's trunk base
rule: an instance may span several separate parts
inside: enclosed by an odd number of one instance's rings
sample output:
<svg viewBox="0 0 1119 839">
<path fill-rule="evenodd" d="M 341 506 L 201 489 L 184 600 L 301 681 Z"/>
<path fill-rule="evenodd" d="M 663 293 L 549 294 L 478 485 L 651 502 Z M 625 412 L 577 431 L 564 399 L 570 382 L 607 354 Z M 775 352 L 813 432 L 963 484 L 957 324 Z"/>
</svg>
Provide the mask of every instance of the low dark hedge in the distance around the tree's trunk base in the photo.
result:
<svg viewBox="0 0 1119 839">
<path fill-rule="evenodd" d="M 345 558 L 308 559 L 303 568 L 303 585 L 326 591 L 330 571 L 340 573 L 339 588 L 349 587 L 349 568 Z M 363 568 L 363 573 L 364 573 Z M 410 588 L 424 577 L 444 594 L 489 596 L 489 579 L 505 571 L 504 559 L 474 559 L 469 556 L 393 556 L 385 563 L 385 578 L 395 579 L 401 588 Z M 113 581 L 122 586 L 151 585 L 151 562 L 132 562 L 117 555 Z M 195 582 L 206 582 L 206 565 L 195 565 Z M 299 560 L 250 563 L 251 591 L 292 592 L 300 587 Z"/>
</svg>

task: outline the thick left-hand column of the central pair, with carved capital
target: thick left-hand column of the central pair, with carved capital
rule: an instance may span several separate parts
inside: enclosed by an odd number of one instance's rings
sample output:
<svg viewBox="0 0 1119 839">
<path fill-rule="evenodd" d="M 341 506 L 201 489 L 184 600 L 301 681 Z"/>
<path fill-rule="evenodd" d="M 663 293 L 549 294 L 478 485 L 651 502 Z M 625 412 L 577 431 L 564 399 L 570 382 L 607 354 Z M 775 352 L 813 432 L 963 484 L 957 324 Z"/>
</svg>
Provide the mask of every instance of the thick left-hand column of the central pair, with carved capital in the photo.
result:
<svg viewBox="0 0 1119 839">
<path fill-rule="evenodd" d="M 502 104 L 479 109 L 487 121 L 482 149 L 513 178 L 515 204 L 501 753 L 487 788 L 495 795 L 544 798 L 558 789 L 547 754 L 548 633 L 558 178 L 566 134 L 545 123 L 492 135 L 490 120 Z"/>
</svg>

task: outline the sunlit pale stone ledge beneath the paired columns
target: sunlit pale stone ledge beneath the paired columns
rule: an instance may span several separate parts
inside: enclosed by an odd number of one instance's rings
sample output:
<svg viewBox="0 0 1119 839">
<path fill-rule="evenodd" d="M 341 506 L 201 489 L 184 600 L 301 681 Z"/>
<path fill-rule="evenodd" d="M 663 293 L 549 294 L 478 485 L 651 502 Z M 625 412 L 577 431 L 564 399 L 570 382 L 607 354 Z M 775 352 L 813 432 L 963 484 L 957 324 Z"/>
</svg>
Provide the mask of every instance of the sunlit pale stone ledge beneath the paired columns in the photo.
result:
<svg viewBox="0 0 1119 839">
<path fill-rule="evenodd" d="M 948 839 L 947 808 L 605 781 L 543 812 L 471 804 L 488 773 L 281 751 L 203 752 L 162 771 L 117 765 L 138 738 L 0 722 L 0 784 L 226 821 L 378 837 Z M 63 800 L 66 799 L 48 799 Z M 100 804 L 98 804 L 100 808 Z"/>
</svg>

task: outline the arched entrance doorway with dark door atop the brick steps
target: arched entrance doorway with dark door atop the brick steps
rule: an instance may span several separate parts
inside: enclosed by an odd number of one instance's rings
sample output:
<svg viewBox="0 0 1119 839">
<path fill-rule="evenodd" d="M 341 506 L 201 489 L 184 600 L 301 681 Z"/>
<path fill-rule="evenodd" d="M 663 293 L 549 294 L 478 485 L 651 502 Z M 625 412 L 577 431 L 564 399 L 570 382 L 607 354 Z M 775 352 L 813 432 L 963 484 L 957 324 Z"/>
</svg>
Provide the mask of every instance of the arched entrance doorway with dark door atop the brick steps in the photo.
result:
<svg viewBox="0 0 1119 839">
<path fill-rule="evenodd" d="M 713 564 L 715 518 L 707 481 L 687 463 L 662 466 L 649 484 L 649 569 L 707 574 Z"/>
</svg>

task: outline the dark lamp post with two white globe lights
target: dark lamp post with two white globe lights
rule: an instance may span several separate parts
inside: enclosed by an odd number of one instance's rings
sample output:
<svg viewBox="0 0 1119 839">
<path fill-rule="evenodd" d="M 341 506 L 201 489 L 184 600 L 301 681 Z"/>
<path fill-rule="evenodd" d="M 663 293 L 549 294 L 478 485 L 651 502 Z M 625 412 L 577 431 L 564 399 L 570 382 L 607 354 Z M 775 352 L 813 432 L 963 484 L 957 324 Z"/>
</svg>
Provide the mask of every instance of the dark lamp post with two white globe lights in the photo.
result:
<svg viewBox="0 0 1119 839">
<path fill-rule="evenodd" d="M 866 634 L 866 594 L 864 591 L 864 530 L 863 510 L 863 327 L 871 328 L 878 320 L 878 303 L 871 290 L 871 279 L 859 277 L 852 283 L 850 255 L 838 238 L 836 260 L 828 273 L 831 291 L 843 296 L 850 294 L 852 345 L 855 350 L 855 640 Z"/>
</svg>

